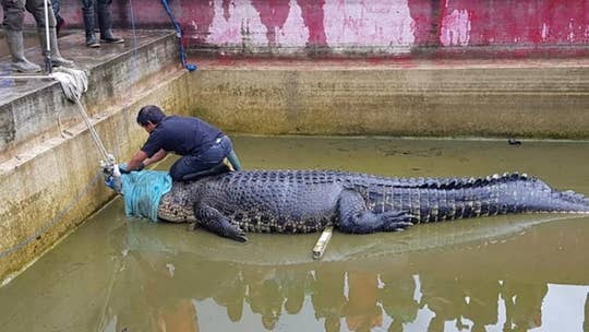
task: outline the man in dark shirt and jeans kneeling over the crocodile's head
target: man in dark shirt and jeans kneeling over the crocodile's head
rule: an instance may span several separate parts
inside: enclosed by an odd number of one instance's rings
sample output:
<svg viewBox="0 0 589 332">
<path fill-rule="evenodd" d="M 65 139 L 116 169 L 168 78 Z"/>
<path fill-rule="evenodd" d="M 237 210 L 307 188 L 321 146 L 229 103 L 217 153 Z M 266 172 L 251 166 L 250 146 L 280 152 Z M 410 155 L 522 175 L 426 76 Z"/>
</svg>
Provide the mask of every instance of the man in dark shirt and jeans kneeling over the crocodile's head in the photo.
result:
<svg viewBox="0 0 589 332">
<path fill-rule="evenodd" d="M 163 159 L 172 151 L 182 157 L 170 167 L 175 181 L 190 181 L 199 177 L 228 170 L 227 157 L 236 170 L 241 169 L 231 140 L 219 129 L 193 117 L 166 116 L 154 105 L 140 109 L 137 123 L 149 138 L 121 173 L 141 170 Z"/>
</svg>

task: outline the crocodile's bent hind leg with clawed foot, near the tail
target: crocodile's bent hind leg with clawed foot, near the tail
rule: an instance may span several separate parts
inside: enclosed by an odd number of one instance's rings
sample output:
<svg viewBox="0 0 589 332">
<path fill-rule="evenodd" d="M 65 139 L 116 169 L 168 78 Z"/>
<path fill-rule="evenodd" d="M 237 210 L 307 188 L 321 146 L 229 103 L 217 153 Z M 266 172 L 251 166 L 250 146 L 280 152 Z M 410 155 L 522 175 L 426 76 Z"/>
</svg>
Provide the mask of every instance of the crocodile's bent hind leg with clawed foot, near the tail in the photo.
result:
<svg viewBox="0 0 589 332">
<path fill-rule="evenodd" d="M 366 209 L 362 195 L 353 190 L 341 191 L 337 213 L 339 229 L 345 233 L 366 234 L 402 230 L 413 225 L 411 223 L 413 216 L 405 211 L 373 213 Z"/>
</svg>

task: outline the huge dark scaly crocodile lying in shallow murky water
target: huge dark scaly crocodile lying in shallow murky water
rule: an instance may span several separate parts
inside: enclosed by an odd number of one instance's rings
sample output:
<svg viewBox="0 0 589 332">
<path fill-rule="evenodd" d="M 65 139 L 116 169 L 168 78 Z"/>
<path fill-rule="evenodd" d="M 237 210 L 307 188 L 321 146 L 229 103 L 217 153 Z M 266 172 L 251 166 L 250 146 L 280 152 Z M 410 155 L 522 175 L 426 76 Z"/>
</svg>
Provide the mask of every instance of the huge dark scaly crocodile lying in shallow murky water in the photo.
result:
<svg viewBox="0 0 589 332">
<path fill-rule="evenodd" d="M 350 234 L 510 213 L 589 214 L 589 199 L 526 174 L 394 178 L 335 170 L 240 170 L 173 182 L 158 218 L 238 241 L 247 232 Z"/>
</svg>

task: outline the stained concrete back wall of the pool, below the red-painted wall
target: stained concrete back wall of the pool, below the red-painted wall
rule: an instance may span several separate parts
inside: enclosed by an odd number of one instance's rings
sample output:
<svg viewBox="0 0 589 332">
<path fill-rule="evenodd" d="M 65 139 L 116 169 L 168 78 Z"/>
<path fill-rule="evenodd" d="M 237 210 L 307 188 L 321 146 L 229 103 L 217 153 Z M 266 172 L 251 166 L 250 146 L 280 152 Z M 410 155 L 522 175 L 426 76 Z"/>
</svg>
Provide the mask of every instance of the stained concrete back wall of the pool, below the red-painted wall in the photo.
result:
<svg viewBox="0 0 589 332">
<path fill-rule="evenodd" d="M 228 131 L 589 138 L 589 59 L 197 62 L 194 111 Z"/>
</svg>

